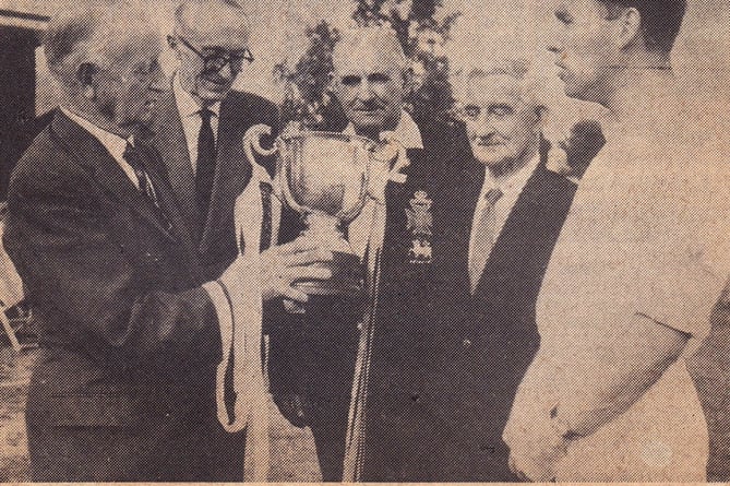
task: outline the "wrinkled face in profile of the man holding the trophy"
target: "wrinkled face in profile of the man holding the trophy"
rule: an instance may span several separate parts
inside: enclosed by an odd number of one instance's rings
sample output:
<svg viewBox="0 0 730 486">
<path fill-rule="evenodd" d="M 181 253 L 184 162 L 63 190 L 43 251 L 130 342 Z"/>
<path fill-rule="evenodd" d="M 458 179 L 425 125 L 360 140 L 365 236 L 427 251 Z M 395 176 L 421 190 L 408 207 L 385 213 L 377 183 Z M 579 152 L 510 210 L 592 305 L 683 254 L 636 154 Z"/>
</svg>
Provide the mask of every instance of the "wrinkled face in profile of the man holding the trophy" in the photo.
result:
<svg viewBox="0 0 730 486">
<path fill-rule="evenodd" d="M 108 52 L 109 63 L 95 75 L 95 99 L 99 112 L 123 137 L 149 126 L 155 103 L 165 90 L 165 76 L 157 62 L 161 42 L 155 35 L 140 35 Z"/>
</svg>

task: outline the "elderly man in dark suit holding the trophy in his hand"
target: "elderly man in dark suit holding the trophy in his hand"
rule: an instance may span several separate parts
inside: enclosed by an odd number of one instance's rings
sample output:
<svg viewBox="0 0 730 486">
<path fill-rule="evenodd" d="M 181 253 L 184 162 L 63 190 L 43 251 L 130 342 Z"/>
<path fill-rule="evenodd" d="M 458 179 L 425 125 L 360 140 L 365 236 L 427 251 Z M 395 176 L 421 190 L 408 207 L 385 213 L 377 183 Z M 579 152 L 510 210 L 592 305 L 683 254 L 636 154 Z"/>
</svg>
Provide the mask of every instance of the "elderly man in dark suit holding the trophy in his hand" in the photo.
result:
<svg viewBox="0 0 730 486">
<path fill-rule="evenodd" d="M 3 240 L 40 334 L 34 481 L 241 479 L 243 436 L 216 419 L 231 309 L 286 293 L 284 272 L 312 276 L 302 240 L 205 275 L 159 154 L 139 137 L 165 90 L 156 31 L 105 1 L 59 13 L 46 35 L 61 107 L 13 173 Z"/>
</svg>

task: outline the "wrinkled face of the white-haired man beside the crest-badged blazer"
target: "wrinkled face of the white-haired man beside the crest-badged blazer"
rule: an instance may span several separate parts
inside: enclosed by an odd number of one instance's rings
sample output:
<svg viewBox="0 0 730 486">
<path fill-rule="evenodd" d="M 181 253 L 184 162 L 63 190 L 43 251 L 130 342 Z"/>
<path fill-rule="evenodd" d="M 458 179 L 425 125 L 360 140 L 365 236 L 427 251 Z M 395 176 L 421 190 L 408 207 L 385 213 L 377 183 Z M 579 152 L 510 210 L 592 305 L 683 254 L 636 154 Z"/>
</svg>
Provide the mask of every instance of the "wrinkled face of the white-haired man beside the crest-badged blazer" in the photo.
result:
<svg viewBox="0 0 730 486">
<path fill-rule="evenodd" d="M 474 156 L 491 168 L 519 165 L 536 153 L 540 116 L 520 82 L 507 74 L 474 78 L 463 102 Z"/>
</svg>

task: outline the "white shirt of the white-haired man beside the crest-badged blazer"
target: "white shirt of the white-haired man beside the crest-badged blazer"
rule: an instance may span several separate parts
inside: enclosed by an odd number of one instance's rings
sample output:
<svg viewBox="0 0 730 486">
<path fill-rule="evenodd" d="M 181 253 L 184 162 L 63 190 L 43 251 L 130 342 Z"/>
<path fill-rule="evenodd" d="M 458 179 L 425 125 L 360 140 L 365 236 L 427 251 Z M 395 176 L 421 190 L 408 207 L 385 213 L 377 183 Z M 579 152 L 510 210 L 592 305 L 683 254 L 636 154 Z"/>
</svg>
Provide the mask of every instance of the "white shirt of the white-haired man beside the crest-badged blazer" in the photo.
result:
<svg viewBox="0 0 730 486">
<path fill-rule="evenodd" d="M 539 163 L 540 154 L 537 153 L 518 170 L 499 178 L 493 177 L 492 173 L 487 169 L 487 174 L 484 175 L 484 183 L 481 187 L 481 192 L 479 193 L 479 199 L 477 200 L 477 208 L 474 211 L 474 218 L 471 221 L 469 260 L 471 260 L 475 246 L 483 244 L 482 241 L 478 241 L 479 238 L 477 236 L 477 232 L 474 229 L 479 223 L 481 213 L 484 211 L 484 206 L 487 204 L 487 192 L 489 192 L 490 189 L 500 189 L 502 191 L 502 197 L 494 204 L 494 241 L 496 241 L 496 239 L 500 237 L 500 234 L 502 233 L 504 223 L 507 221 L 507 217 L 510 217 L 512 209 L 517 202 L 517 199 L 525 188 L 525 185 L 527 185 L 527 180 L 530 178 Z"/>
</svg>

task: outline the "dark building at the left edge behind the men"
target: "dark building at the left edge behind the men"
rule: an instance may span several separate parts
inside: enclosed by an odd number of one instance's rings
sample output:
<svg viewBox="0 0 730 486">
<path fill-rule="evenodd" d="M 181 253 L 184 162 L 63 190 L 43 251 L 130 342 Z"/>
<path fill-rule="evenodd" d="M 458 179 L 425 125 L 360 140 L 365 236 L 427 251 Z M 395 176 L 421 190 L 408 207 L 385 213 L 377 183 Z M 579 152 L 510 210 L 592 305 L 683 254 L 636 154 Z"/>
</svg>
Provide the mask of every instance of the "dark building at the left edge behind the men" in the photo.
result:
<svg viewBox="0 0 730 486">
<path fill-rule="evenodd" d="M 35 112 L 35 49 L 47 21 L 36 13 L 0 10 L 0 201 L 17 158 L 50 119 L 36 119 Z"/>
</svg>

